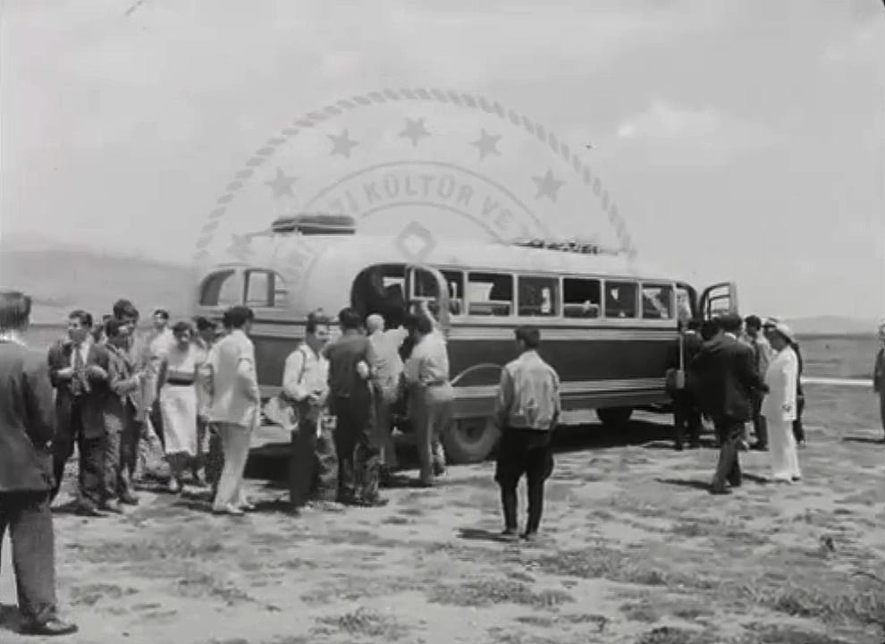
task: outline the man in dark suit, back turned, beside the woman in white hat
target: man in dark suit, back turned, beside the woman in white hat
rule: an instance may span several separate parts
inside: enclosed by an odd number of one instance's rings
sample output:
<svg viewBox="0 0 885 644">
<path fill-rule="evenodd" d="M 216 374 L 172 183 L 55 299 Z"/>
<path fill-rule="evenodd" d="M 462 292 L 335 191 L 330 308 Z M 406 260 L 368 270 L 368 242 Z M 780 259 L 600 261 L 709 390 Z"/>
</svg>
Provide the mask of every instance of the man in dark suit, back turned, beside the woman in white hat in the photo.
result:
<svg viewBox="0 0 885 644">
<path fill-rule="evenodd" d="M 743 320 L 736 313 L 719 318 L 721 334 L 705 343 L 692 361 L 693 377 L 709 410 L 719 439 L 719 464 L 713 494 L 729 494 L 741 484 L 738 449 L 744 425 L 753 418 L 754 397 L 767 387 L 755 369 L 753 350 L 738 341 Z"/>
</svg>

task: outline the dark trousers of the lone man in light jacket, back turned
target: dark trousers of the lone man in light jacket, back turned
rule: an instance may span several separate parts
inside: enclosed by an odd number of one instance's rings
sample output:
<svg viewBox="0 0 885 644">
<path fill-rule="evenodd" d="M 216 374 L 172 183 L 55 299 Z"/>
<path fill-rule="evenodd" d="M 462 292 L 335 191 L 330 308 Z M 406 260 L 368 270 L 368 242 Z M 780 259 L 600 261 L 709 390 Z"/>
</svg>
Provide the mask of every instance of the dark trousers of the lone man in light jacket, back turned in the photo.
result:
<svg viewBox="0 0 885 644">
<path fill-rule="evenodd" d="M 526 532 L 535 533 L 544 513 L 544 481 L 553 472 L 552 432 L 505 428 L 498 446 L 494 480 L 501 487 L 504 527 L 517 529 L 517 486 L 526 475 L 528 520 Z"/>
</svg>

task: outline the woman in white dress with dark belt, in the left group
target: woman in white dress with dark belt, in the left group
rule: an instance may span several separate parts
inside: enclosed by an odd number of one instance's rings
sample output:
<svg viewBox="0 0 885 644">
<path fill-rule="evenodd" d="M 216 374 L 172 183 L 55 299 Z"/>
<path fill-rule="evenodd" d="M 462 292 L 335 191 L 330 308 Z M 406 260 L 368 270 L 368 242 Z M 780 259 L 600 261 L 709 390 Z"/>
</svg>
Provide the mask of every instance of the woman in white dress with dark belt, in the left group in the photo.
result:
<svg viewBox="0 0 885 644">
<path fill-rule="evenodd" d="M 163 355 L 157 377 L 157 399 L 163 416 L 166 460 L 172 470 L 169 491 L 181 491 L 181 474 L 197 456 L 198 350 L 187 322 L 173 326 L 174 340 Z"/>
</svg>

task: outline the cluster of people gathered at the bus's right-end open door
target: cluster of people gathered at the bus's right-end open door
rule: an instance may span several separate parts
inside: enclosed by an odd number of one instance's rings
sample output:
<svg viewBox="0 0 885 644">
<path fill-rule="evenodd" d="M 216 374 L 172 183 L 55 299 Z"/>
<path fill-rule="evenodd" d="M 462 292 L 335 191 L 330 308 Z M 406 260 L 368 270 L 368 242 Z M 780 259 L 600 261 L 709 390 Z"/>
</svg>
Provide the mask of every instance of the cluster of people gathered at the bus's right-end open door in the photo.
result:
<svg viewBox="0 0 885 644">
<path fill-rule="evenodd" d="M 702 417 L 712 419 L 720 462 L 714 494 L 739 487 L 738 452 L 771 453 L 771 479 L 801 479 L 797 446 L 805 445 L 802 358 L 796 336 L 778 318 L 741 319 L 729 313 L 705 323 L 691 320 L 670 357 L 675 444 L 700 445 Z M 755 442 L 749 445 L 749 428 Z"/>
</svg>

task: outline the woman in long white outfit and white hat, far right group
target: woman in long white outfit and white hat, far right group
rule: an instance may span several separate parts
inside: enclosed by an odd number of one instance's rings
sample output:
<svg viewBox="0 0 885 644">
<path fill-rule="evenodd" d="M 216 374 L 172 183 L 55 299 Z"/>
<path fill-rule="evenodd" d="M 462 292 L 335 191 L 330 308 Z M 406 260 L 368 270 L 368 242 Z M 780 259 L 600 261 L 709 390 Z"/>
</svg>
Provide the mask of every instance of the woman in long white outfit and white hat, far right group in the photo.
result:
<svg viewBox="0 0 885 644">
<path fill-rule="evenodd" d="M 799 361 L 791 346 L 795 338 L 789 326 L 783 322 L 766 326 L 766 337 L 776 352 L 765 372 L 769 392 L 762 404 L 762 415 L 768 423 L 771 480 L 790 483 L 802 478 L 796 438 L 793 436 Z"/>
</svg>

